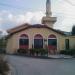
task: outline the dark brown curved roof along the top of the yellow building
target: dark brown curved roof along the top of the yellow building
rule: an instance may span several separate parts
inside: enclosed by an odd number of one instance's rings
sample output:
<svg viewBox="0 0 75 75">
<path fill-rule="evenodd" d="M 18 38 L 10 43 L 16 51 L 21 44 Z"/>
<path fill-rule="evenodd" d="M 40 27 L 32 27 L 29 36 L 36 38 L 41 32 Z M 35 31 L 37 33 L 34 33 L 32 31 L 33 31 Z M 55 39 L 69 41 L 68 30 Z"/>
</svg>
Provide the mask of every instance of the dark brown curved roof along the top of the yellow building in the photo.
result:
<svg viewBox="0 0 75 75">
<path fill-rule="evenodd" d="M 18 29 L 19 28 L 19 29 Z M 34 25 L 30 25 L 30 24 L 23 24 L 19 27 L 16 27 L 16 28 L 13 28 L 13 29 L 10 29 L 8 30 L 7 32 L 9 33 L 9 35 L 12 35 L 12 34 L 15 34 L 15 33 L 18 33 L 20 31 L 23 31 L 25 29 L 29 29 L 29 28 L 47 28 L 47 29 L 50 29 L 56 33 L 59 33 L 61 35 L 65 35 L 63 32 L 61 31 L 58 31 L 58 30 L 55 30 L 53 28 L 50 28 L 48 27 L 47 25 L 43 25 L 43 24 L 34 24 Z"/>
</svg>

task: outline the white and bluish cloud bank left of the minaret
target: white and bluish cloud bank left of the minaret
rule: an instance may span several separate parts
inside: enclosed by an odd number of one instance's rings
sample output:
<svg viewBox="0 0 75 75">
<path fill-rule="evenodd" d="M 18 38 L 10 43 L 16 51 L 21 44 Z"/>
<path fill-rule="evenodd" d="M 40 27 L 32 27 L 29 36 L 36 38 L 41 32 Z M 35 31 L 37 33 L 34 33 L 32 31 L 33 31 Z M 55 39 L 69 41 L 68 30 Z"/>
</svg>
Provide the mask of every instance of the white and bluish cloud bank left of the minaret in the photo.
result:
<svg viewBox="0 0 75 75">
<path fill-rule="evenodd" d="M 3 10 L 0 12 L 0 29 L 3 31 L 23 23 L 41 23 L 43 16 L 44 13 L 41 11 L 13 14 Z"/>
</svg>

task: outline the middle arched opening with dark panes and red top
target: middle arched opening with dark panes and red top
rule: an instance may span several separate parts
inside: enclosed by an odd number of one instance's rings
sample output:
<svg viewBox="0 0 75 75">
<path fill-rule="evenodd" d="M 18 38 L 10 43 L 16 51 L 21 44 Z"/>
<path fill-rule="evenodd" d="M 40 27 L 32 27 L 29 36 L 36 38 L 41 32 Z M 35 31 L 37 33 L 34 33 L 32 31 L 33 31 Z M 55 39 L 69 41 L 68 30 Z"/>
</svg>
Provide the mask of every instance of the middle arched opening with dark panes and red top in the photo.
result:
<svg viewBox="0 0 75 75">
<path fill-rule="evenodd" d="M 34 48 L 43 48 L 43 37 L 40 34 L 34 36 Z"/>
</svg>

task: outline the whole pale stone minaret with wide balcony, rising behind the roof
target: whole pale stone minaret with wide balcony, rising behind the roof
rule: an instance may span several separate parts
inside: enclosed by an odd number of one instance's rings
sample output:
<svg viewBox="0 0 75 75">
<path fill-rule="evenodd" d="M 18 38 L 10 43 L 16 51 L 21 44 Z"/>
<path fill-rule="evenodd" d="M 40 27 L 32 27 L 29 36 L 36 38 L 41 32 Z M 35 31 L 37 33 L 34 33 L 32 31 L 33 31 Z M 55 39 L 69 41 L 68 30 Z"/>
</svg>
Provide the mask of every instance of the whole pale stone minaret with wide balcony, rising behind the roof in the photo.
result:
<svg viewBox="0 0 75 75">
<path fill-rule="evenodd" d="M 51 17 L 51 0 L 46 1 L 46 16 L 42 18 L 42 24 L 47 25 L 50 28 L 53 28 L 53 24 L 56 22 L 56 17 Z"/>
</svg>

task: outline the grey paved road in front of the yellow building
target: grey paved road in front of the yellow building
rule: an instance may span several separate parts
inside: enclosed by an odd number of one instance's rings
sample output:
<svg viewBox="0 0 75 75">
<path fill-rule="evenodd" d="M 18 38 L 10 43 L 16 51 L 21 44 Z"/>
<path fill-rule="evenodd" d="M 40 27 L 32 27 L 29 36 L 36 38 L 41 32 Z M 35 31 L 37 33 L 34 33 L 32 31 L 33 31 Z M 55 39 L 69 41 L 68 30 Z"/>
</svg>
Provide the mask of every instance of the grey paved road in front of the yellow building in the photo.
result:
<svg viewBox="0 0 75 75">
<path fill-rule="evenodd" d="M 7 57 L 12 75 L 75 75 L 75 59 Z"/>
</svg>

